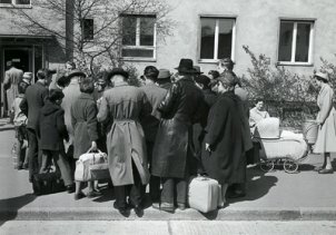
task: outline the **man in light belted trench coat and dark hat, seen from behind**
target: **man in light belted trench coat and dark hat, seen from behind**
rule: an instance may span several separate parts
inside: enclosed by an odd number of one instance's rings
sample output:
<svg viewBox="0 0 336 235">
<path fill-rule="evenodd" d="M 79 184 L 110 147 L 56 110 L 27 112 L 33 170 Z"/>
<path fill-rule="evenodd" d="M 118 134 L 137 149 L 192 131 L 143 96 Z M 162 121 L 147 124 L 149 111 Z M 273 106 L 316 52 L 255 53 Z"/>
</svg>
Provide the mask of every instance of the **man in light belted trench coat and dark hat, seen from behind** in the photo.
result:
<svg viewBox="0 0 336 235">
<path fill-rule="evenodd" d="M 108 163 L 115 185 L 115 207 L 121 215 L 128 214 L 126 197 L 137 215 L 142 213 L 142 186 L 148 184 L 146 141 L 139 120 L 150 115 L 151 107 L 140 88 L 127 84 L 128 72 L 112 69 L 113 88 L 103 92 L 98 121 L 113 119 L 107 138 Z M 129 190 L 128 190 L 129 189 Z"/>
</svg>

